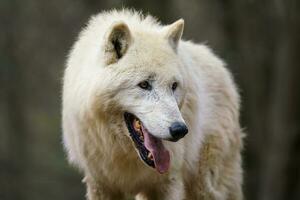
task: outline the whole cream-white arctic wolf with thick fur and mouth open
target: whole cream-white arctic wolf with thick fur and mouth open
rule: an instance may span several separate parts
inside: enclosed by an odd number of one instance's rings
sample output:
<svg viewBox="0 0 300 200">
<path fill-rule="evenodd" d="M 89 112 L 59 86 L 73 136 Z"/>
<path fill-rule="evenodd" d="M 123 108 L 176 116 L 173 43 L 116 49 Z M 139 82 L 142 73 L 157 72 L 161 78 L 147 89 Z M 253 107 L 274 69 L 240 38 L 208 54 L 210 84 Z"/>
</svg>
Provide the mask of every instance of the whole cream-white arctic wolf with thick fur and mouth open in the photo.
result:
<svg viewBox="0 0 300 200">
<path fill-rule="evenodd" d="M 122 10 L 91 18 L 64 74 L 63 139 L 89 200 L 242 199 L 239 95 L 224 63 Z"/>
</svg>

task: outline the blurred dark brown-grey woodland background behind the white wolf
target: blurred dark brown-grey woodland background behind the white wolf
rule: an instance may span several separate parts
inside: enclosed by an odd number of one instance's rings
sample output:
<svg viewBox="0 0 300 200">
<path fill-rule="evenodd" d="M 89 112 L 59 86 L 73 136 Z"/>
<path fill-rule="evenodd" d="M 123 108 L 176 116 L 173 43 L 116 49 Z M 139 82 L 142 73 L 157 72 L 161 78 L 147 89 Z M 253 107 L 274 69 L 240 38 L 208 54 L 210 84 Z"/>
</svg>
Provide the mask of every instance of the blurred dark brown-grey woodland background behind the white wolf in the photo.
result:
<svg viewBox="0 0 300 200">
<path fill-rule="evenodd" d="M 300 199 L 300 1 L 0 0 L 0 199 L 84 199 L 61 142 L 67 53 L 92 14 L 121 7 L 164 24 L 228 63 L 242 96 L 247 199 Z"/>
</svg>

